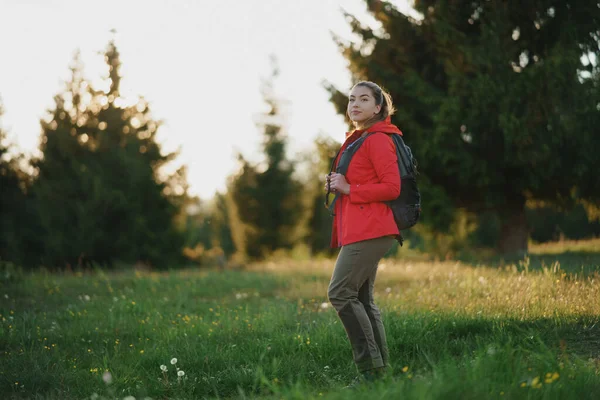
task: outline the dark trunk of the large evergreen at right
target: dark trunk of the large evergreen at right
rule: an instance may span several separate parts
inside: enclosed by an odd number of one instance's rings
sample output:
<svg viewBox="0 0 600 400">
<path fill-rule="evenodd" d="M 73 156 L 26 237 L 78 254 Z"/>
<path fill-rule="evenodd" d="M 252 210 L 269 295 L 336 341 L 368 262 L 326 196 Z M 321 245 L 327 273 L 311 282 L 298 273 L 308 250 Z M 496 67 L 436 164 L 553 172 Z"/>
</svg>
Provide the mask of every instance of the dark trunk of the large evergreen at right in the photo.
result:
<svg viewBox="0 0 600 400">
<path fill-rule="evenodd" d="M 523 257 L 527 254 L 529 229 L 525 217 L 525 200 L 519 199 L 500 214 L 502 228 L 498 241 L 498 250 L 504 255 Z"/>
</svg>

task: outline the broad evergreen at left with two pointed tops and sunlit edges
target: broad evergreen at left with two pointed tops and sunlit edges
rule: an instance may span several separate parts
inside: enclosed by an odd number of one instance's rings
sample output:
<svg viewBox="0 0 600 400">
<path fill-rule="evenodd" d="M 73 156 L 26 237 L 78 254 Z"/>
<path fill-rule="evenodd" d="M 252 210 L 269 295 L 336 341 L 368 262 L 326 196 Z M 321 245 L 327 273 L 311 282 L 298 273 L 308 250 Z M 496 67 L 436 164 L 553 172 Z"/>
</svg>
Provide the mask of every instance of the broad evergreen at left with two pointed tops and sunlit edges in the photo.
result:
<svg viewBox="0 0 600 400">
<path fill-rule="evenodd" d="M 116 260 L 165 266 L 178 259 L 174 218 L 186 197 L 185 171 L 161 178 L 176 154 L 163 155 L 148 103 L 120 95 L 120 58 L 105 52 L 109 88 L 83 78 L 78 56 L 64 93 L 42 121 L 43 157 L 34 184 L 49 266 Z"/>
</svg>

